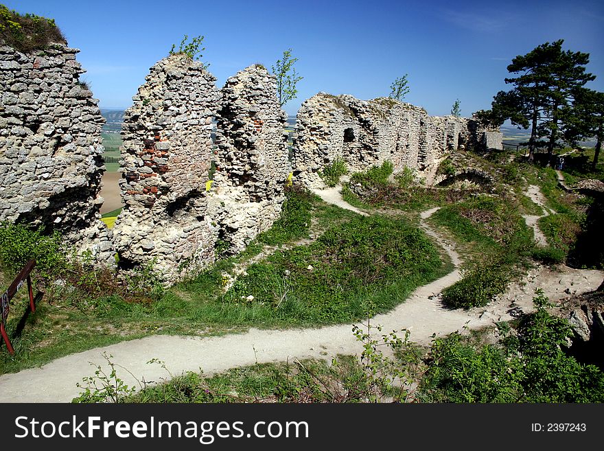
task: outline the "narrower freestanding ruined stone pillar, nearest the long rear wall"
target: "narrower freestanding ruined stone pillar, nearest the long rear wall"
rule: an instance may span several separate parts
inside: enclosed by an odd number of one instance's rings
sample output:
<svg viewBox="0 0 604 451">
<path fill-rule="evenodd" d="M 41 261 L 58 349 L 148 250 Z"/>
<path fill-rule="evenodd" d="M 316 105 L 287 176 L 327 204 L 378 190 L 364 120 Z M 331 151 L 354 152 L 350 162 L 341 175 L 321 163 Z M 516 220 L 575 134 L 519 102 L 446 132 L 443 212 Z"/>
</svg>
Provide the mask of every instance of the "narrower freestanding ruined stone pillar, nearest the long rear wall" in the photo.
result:
<svg viewBox="0 0 604 451">
<path fill-rule="evenodd" d="M 277 100 L 275 76 L 260 65 L 229 78 L 221 93 L 210 205 L 220 240 L 238 252 L 281 213 L 291 171 L 287 115 Z"/>
</svg>

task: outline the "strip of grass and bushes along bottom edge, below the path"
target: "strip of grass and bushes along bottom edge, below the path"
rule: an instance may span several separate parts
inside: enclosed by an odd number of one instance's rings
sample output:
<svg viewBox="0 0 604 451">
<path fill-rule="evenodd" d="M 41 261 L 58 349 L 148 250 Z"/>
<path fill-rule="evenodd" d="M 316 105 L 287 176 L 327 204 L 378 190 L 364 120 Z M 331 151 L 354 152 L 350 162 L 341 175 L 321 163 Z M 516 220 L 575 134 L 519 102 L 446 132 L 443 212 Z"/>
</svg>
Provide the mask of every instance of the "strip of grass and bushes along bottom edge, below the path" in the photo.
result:
<svg viewBox="0 0 604 451">
<path fill-rule="evenodd" d="M 570 325 L 545 310 L 547 299 L 539 292 L 533 301 L 534 313 L 497 323 L 494 343 L 490 329 L 434 337 L 424 348 L 405 338 L 390 342 L 394 353 L 388 358 L 380 350 L 388 344 L 383 337 L 357 335 L 367 353 L 360 358 L 257 363 L 212 376 L 187 372 L 175 377 L 166 371 L 165 382 L 133 394 L 128 386 L 112 387 L 97 373 L 91 378 L 95 384 L 84 384 L 89 390 L 74 402 L 102 402 L 105 389 L 115 402 L 163 404 L 602 402 L 601 369 L 568 355 Z M 165 368 L 163 362 L 149 363 Z"/>
</svg>

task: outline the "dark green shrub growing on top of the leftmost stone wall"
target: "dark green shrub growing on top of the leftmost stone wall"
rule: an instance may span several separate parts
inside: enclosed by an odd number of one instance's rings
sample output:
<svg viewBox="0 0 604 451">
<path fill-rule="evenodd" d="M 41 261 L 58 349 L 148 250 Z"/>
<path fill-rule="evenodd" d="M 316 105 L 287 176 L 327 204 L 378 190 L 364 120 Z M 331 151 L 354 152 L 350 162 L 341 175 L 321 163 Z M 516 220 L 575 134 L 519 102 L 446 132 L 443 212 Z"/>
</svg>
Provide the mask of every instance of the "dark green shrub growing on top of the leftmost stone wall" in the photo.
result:
<svg viewBox="0 0 604 451">
<path fill-rule="evenodd" d="M 0 5 L 0 38 L 23 53 L 45 49 L 51 43 L 65 43 L 54 19 L 35 14 L 21 15 L 5 5 Z"/>
</svg>

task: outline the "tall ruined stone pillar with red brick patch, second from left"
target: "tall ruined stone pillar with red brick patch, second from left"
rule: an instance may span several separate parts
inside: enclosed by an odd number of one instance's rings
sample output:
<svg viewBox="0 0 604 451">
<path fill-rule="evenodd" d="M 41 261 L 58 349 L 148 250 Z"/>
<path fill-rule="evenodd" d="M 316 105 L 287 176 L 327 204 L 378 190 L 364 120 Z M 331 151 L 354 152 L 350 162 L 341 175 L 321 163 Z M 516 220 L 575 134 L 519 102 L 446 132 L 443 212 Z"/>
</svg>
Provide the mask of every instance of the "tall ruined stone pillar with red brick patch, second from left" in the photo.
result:
<svg viewBox="0 0 604 451">
<path fill-rule="evenodd" d="M 211 262 L 218 224 L 208 213 L 216 78 L 183 54 L 150 69 L 124 115 L 119 181 L 124 209 L 115 222 L 119 265 L 154 263 L 174 281 Z"/>
</svg>

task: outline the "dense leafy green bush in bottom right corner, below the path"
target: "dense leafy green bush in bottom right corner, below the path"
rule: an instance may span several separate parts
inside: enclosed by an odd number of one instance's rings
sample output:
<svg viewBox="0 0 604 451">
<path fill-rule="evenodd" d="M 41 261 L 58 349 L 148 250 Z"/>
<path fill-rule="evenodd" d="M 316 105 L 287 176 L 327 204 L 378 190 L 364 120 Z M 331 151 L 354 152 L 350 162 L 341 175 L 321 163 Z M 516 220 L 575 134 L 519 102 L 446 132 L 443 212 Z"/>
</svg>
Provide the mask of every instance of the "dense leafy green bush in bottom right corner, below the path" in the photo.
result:
<svg viewBox="0 0 604 451">
<path fill-rule="evenodd" d="M 604 374 L 564 351 L 568 322 L 546 311 L 524 316 L 517 334 L 498 346 L 477 345 L 459 334 L 432 342 L 419 399 L 427 402 L 603 402 Z"/>
</svg>

